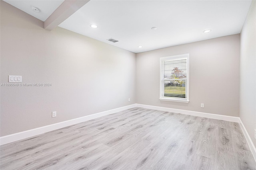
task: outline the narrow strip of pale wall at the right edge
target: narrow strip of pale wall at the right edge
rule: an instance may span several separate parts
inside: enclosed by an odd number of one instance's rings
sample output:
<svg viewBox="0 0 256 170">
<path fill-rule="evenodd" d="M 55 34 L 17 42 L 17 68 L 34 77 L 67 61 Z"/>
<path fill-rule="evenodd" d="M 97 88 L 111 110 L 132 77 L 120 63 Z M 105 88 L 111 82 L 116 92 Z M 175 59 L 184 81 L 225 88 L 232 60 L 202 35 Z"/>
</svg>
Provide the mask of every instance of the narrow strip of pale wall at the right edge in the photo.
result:
<svg viewBox="0 0 256 170">
<path fill-rule="evenodd" d="M 256 1 L 252 1 L 241 31 L 240 119 L 256 146 Z"/>
</svg>

